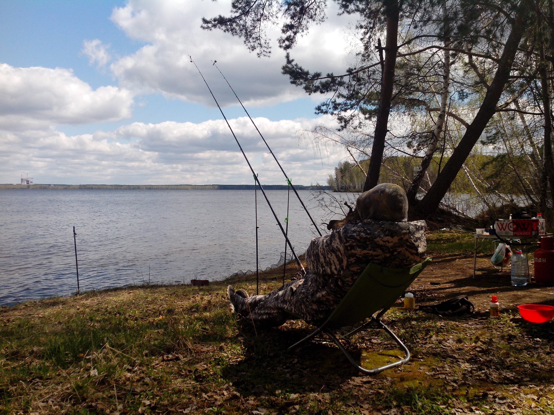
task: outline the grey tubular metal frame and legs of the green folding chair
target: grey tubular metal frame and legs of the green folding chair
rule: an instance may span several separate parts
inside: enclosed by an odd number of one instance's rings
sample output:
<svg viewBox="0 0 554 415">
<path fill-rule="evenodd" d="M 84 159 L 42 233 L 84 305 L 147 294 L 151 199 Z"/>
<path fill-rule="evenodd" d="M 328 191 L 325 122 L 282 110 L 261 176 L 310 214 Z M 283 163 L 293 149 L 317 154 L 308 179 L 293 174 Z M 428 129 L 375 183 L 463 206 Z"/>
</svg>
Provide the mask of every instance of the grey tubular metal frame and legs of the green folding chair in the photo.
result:
<svg viewBox="0 0 554 415">
<path fill-rule="evenodd" d="M 418 264 L 418 265 L 421 265 L 421 267 L 420 267 L 418 272 L 414 272 L 413 278 L 406 285 L 406 288 L 409 286 L 409 284 L 411 284 L 414 281 L 414 279 L 416 279 L 416 277 L 419 275 L 419 273 L 421 271 L 423 271 L 423 268 L 425 268 L 425 266 L 427 266 L 427 264 L 429 262 L 430 262 L 430 258 L 427 258 L 427 260 L 425 260 L 423 263 Z M 368 267 L 370 267 L 370 266 L 375 266 L 375 265 L 373 265 L 373 264 L 368 265 Z M 350 290 L 352 290 L 353 288 L 354 288 L 354 286 L 352 286 L 352 288 Z M 396 288 L 398 288 L 398 287 L 396 287 Z M 348 293 L 350 293 L 350 290 L 348 291 Z M 348 295 L 348 293 L 347 293 L 347 295 Z M 345 299 L 346 299 L 346 296 L 345 296 Z M 344 301 L 345 299 L 343 299 L 342 301 Z M 396 300 L 396 298 L 394 300 Z M 329 328 L 329 326 L 333 325 L 333 321 L 331 320 L 332 315 L 330 316 L 330 318 L 328 318 L 325 321 L 325 323 L 323 323 L 321 326 L 319 326 L 316 330 L 312 331 L 312 333 L 307 335 L 304 339 L 302 339 L 300 341 L 297 341 L 295 344 L 288 347 L 287 350 L 291 351 L 291 350 L 295 349 L 297 346 L 300 346 L 302 343 L 305 343 L 306 341 L 315 338 L 315 336 L 317 336 L 318 334 L 324 333 L 332 341 L 334 341 L 334 343 L 343 352 L 343 354 L 345 354 L 345 356 L 347 357 L 348 361 L 350 361 L 352 366 L 354 366 L 358 371 L 360 371 L 362 373 L 365 373 L 366 375 L 377 375 L 377 373 L 381 373 L 384 370 L 392 369 L 393 367 L 397 367 L 397 366 L 401 366 L 401 365 L 407 363 L 410 360 L 411 355 L 410 355 L 410 352 L 408 350 L 408 347 L 406 347 L 406 345 L 404 343 L 402 343 L 402 340 L 400 340 L 398 338 L 398 336 L 396 334 L 394 334 L 393 331 L 391 329 L 389 329 L 388 326 L 381 321 L 381 317 L 384 315 L 384 313 L 386 313 L 392 307 L 392 305 L 394 304 L 394 300 L 392 302 L 388 302 L 387 304 L 385 304 L 384 307 L 381 308 L 381 311 L 378 312 L 377 314 L 374 314 L 374 315 L 372 314 L 369 317 L 369 319 L 370 319 L 369 321 L 367 321 L 366 323 L 358 326 L 356 329 L 350 331 L 350 333 L 342 336 L 342 339 L 348 339 L 348 338 L 350 338 L 350 336 L 352 336 L 356 333 L 359 333 L 360 331 L 363 331 L 365 329 L 368 329 L 371 326 L 373 326 L 374 328 L 377 328 L 377 329 L 383 329 L 396 342 L 396 344 L 398 344 L 398 346 L 402 349 L 402 351 L 404 352 L 404 355 L 406 355 L 406 357 L 404 357 L 404 359 L 394 361 L 394 362 L 389 363 L 387 365 L 375 367 L 374 369 L 365 369 L 365 367 L 362 367 L 362 366 L 358 365 L 357 361 L 346 350 L 346 348 L 342 345 L 340 340 L 338 340 L 336 338 L 336 336 L 334 334 L 332 334 L 331 329 Z M 341 301 L 341 303 L 342 303 L 342 301 Z M 337 308 L 340 305 L 341 304 L 339 304 L 337 306 Z M 338 327 L 338 328 L 340 328 L 340 327 Z"/>
</svg>

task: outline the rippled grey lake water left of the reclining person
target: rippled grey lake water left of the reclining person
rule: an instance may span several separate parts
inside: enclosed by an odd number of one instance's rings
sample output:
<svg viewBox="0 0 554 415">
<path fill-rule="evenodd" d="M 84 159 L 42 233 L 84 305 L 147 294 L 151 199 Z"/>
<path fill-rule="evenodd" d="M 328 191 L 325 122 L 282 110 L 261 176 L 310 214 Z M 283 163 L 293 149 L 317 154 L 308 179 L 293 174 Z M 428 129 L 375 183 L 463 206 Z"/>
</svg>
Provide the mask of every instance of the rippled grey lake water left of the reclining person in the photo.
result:
<svg viewBox="0 0 554 415">
<path fill-rule="evenodd" d="M 286 190 L 267 191 L 279 219 Z M 316 223 L 322 212 L 299 191 Z M 298 255 L 315 230 L 291 193 L 289 237 Z M 0 190 L 0 305 L 81 290 L 217 280 L 255 270 L 254 191 Z M 258 191 L 260 268 L 284 238 Z"/>
</svg>

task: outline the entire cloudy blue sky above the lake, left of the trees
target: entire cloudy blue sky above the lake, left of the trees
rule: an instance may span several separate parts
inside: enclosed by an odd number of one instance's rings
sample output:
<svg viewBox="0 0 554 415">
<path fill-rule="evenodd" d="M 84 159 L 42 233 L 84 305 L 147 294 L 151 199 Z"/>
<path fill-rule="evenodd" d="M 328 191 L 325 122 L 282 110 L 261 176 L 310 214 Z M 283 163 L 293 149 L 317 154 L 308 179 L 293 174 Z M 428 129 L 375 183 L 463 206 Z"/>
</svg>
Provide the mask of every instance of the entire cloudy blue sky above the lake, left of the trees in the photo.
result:
<svg viewBox="0 0 554 415">
<path fill-rule="evenodd" d="M 222 117 L 188 54 L 235 120 L 266 183 L 282 180 L 212 59 L 250 115 L 268 128 L 284 164 L 290 160 L 296 183 L 325 181 L 343 155 L 322 156 L 298 133 L 333 125 L 314 113 L 321 97 L 306 96 L 280 74 L 283 51 L 258 59 L 240 39 L 199 29 L 202 16 L 228 9 L 227 2 L 198 0 L 0 1 L 0 149 L 6 157 L 0 182 L 28 172 L 36 183 L 244 183 L 244 162 L 227 146 L 232 137 L 217 123 Z M 341 71 L 348 22 L 329 16 L 293 57 L 309 68 Z"/>
</svg>

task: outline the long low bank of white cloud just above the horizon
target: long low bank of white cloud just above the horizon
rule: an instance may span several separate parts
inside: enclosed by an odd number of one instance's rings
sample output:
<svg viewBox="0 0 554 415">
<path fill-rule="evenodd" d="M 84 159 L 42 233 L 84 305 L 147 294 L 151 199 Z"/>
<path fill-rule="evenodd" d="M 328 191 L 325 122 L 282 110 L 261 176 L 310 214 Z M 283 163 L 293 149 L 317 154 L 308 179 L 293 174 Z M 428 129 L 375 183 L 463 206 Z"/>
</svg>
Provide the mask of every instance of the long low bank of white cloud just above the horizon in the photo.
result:
<svg viewBox="0 0 554 415">
<path fill-rule="evenodd" d="M 255 119 L 285 171 L 297 184 L 325 183 L 342 152 L 321 158 L 297 132 L 316 120 Z M 265 184 L 284 179 L 248 118 L 230 120 Z M 68 137 L 57 131 L 0 131 L 0 181 L 13 172 L 32 172 L 35 183 L 211 184 L 249 183 L 252 174 L 225 122 L 132 123 L 113 132 Z M 17 176 L 17 174 L 16 174 Z"/>
</svg>

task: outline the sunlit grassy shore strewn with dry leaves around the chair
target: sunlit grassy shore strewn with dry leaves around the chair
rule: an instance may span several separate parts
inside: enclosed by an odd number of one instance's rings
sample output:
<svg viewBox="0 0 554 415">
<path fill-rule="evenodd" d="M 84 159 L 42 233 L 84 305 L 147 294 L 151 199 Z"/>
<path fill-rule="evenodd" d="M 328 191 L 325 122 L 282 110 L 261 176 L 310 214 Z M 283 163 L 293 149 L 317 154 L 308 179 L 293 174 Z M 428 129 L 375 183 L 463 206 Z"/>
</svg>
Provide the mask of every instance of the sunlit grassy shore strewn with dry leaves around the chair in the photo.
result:
<svg viewBox="0 0 554 415">
<path fill-rule="evenodd" d="M 464 232 L 428 240 L 436 267 L 449 272 L 455 262 L 441 265 L 441 255 L 467 258 L 473 248 Z M 260 292 L 282 277 L 282 268 L 263 273 Z M 224 298 L 229 283 L 255 292 L 249 276 L 0 308 L 0 413 L 554 413 L 552 323 L 526 323 L 513 309 L 443 318 L 398 303 L 385 320 L 413 358 L 368 377 L 324 340 L 286 352 L 305 323 L 240 331 Z M 375 331 L 350 348 L 368 367 L 398 354 Z"/>
</svg>

